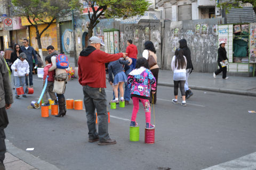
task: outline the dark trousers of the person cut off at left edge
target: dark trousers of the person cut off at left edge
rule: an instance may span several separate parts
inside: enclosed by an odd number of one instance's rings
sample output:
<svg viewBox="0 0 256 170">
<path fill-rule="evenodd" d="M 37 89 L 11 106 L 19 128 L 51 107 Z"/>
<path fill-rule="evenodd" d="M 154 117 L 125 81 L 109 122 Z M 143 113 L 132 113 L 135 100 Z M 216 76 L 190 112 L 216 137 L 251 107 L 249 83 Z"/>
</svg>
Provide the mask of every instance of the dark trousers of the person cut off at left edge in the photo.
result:
<svg viewBox="0 0 256 170">
<path fill-rule="evenodd" d="M 6 146 L 5 146 L 5 133 L 4 129 L 9 124 L 8 116 L 5 110 L 5 107 L 0 108 L 0 165 L 4 161 L 4 154 L 6 152 Z"/>
</svg>

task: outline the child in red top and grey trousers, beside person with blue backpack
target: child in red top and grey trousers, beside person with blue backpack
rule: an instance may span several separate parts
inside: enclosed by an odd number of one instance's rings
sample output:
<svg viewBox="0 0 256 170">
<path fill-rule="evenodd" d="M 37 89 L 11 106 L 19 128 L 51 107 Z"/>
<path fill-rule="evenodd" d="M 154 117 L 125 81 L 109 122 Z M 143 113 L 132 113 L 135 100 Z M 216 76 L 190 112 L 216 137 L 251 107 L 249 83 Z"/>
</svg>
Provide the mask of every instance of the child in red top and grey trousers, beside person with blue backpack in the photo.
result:
<svg viewBox="0 0 256 170">
<path fill-rule="evenodd" d="M 46 79 L 47 75 L 48 75 L 48 78 L 47 78 L 47 86 L 46 86 L 46 89 L 44 92 L 44 99 L 45 99 L 44 106 L 49 106 L 50 104 L 49 104 L 47 92 L 49 93 L 51 99 L 54 100 L 54 104 L 58 104 L 57 97 L 55 96 L 55 92 L 53 92 L 55 72 L 49 71 L 50 67 L 52 66 L 51 55 L 48 55 L 45 57 L 45 64 L 46 65 L 44 67 L 43 86 L 45 84 L 45 79 Z"/>
</svg>

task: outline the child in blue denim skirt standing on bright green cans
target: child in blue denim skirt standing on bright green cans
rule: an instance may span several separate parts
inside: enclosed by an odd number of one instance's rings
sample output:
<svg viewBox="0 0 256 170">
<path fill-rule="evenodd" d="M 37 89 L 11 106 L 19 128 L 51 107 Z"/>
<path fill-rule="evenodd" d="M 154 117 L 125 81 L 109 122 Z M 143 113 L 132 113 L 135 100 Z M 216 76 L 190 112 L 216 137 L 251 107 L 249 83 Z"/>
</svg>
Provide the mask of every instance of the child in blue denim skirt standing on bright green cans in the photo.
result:
<svg viewBox="0 0 256 170">
<path fill-rule="evenodd" d="M 126 74 L 124 73 L 124 67 L 123 64 L 129 64 L 130 60 L 123 60 L 123 58 L 120 58 L 119 60 L 116 60 L 114 62 L 110 62 L 108 64 L 108 74 L 109 74 L 109 83 L 111 86 L 113 86 L 114 94 L 115 94 L 115 100 L 111 100 L 110 102 L 118 103 L 118 88 L 120 92 L 120 100 L 124 101 L 124 82 L 127 82 Z M 114 79 L 113 75 L 114 74 Z"/>
</svg>

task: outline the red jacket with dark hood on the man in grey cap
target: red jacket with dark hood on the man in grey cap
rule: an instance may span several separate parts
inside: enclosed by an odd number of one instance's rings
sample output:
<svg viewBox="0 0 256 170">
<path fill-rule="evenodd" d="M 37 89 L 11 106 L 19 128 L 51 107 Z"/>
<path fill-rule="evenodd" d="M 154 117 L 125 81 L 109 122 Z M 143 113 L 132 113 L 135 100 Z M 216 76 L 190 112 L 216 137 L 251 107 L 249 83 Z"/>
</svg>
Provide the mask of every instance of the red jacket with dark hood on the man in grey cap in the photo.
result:
<svg viewBox="0 0 256 170">
<path fill-rule="evenodd" d="M 123 53 L 108 54 L 88 46 L 82 50 L 78 58 L 79 83 L 92 88 L 106 88 L 105 63 L 116 61 Z"/>
</svg>

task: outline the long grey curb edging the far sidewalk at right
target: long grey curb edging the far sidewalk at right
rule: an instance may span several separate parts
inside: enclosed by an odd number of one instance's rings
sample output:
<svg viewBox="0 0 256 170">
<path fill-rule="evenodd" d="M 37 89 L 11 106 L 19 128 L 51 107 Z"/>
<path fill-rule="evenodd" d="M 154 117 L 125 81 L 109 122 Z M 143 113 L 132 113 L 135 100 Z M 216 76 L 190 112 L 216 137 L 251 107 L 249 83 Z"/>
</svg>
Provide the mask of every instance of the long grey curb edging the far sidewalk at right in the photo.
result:
<svg viewBox="0 0 256 170">
<path fill-rule="evenodd" d="M 172 83 L 158 82 L 158 86 L 167 86 L 173 87 Z M 234 95 L 243 95 L 243 96 L 253 96 L 256 97 L 256 92 L 245 91 L 245 90 L 231 90 L 231 89 L 221 89 L 221 88 L 209 88 L 204 86 L 189 86 L 191 89 L 195 90 L 205 90 L 205 91 L 213 91 L 213 92 L 221 92 L 225 94 L 234 94 Z"/>
</svg>

